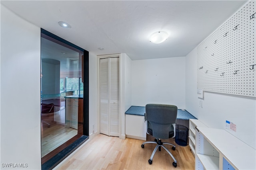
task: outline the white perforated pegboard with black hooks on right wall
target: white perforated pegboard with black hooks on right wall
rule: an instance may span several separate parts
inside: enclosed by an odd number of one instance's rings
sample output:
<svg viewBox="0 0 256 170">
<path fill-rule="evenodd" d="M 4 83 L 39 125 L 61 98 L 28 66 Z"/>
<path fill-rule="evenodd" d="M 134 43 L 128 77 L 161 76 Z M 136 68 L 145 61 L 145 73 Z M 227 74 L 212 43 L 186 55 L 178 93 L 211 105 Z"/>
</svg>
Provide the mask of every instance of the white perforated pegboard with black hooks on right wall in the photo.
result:
<svg viewBox="0 0 256 170">
<path fill-rule="evenodd" d="M 256 1 L 249 1 L 197 47 L 197 88 L 256 97 Z"/>
</svg>

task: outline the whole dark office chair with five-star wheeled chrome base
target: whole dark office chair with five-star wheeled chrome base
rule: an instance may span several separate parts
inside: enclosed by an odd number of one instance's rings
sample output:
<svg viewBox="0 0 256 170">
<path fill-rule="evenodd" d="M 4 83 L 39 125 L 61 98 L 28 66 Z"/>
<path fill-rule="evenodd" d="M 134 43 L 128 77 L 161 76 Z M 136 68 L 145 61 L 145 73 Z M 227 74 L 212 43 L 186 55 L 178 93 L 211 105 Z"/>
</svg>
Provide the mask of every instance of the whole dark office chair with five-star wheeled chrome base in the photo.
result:
<svg viewBox="0 0 256 170">
<path fill-rule="evenodd" d="M 152 135 L 155 141 L 148 141 L 142 143 L 141 147 L 144 148 L 146 143 L 156 143 L 156 147 L 148 160 L 149 164 L 152 164 L 152 159 L 156 150 L 161 151 L 163 147 L 172 156 L 174 162 L 172 165 L 177 167 L 177 161 L 171 152 L 164 146 L 164 144 L 172 145 L 172 150 L 175 150 L 175 145 L 171 143 L 162 143 L 161 139 L 169 139 L 175 137 L 175 125 L 177 118 L 177 106 L 165 105 L 165 104 L 147 104 L 146 113 L 144 114 L 145 120 L 147 121 L 147 133 Z"/>
</svg>

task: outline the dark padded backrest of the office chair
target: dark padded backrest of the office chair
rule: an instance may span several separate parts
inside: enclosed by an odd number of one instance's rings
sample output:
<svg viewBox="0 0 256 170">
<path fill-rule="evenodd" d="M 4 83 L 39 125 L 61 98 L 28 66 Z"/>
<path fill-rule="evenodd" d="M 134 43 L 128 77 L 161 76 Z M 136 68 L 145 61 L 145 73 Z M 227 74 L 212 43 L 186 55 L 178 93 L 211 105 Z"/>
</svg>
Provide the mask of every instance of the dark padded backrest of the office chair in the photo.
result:
<svg viewBox="0 0 256 170">
<path fill-rule="evenodd" d="M 152 136 L 159 139 L 169 139 L 172 124 L 176 123 L 177 106 L 166 104 L 147 104 L 145 119 L 150 123 Z M 151 129 L 150 129 L 151 130 Z"/>
</svg>

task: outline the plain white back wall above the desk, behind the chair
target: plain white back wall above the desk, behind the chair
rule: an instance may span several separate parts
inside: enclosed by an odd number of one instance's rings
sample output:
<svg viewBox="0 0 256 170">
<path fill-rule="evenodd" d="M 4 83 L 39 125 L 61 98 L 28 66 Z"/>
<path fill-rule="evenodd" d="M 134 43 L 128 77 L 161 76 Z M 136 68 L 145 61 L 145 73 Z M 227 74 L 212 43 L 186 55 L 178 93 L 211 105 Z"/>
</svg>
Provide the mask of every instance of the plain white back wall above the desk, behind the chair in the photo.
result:
<svg viewBox="0 0 256 170">
<path fill-rule="evenodd" d="M 132 61 L 132 106 L 148 103 L 185 109 L 185 57 Z"/>
</svg>

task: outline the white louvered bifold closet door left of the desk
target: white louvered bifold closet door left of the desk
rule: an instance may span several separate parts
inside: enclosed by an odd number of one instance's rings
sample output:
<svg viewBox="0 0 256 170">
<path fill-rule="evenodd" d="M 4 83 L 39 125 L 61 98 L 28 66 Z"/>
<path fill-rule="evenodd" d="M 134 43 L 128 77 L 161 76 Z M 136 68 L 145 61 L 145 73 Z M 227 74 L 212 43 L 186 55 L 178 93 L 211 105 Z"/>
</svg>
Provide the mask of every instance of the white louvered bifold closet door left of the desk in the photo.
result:
<svg viewBox="0 0 256 170">
<path fill-rule="evenodd" d="M 100 133 L 120 135 L 119 57 L 100 59 Z"/>
</svg>

